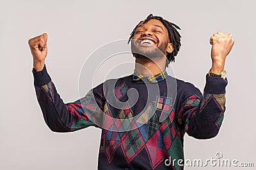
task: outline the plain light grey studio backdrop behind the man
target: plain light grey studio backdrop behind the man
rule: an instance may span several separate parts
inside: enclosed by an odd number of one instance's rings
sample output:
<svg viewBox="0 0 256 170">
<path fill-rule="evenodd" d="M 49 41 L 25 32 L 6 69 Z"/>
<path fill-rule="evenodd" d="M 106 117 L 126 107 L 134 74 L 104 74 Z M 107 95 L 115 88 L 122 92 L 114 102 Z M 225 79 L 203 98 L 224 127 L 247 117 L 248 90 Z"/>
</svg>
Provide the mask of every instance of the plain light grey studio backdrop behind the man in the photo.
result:
<svg viewBox="0 0 256 170">
<path fill-rule="evenodd" d="M 46 126 L 33 87 L 28 39 L 47 32 L 47 69 L 68 103 L 79 98 L 79 74 L 90 53 L 110 41 L 129 38 L 149 13 L 181 27 L 182 47 L 172 67 L 177 78 L 200 90 L 211 67 L 209 38 L 218 31 L 233 34 L 235 44 L 225 65 L 228 86 L 223 125 L 213 139 L 198 140 L 186 134 L 185 159 L 206 160 L 221 152 L 223 159 L 256 166 L 254 1 L 1 0 L 0 169 L 97 169 L 100 129 L 61 134 Z M 84 92 L 92 87 L 90 76 L 88 72 Z"/>
</svg>

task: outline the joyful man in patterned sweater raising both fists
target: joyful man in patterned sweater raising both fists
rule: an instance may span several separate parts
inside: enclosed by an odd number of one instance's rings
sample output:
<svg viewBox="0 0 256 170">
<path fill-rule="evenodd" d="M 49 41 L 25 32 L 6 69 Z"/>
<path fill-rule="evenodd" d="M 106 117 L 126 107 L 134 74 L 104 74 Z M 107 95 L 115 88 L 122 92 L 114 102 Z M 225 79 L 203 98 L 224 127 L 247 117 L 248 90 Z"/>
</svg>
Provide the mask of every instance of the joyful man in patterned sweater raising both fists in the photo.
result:
<svg viewBox="0 0 256 170">
<path fill-rule="evenodd" d="M 211 37 L 212 66 L 202 95 L 191 83 L 165 71 L 179 52 L 177 29 L 149 15 L 129 39 L 134 74 L 107 80 L 68 104 L 60 99 L 45 67 L 47 34 L 29 39 L 36 96 L 46 124 L 55 132 L 100 127 L 98 169 L 183 169 L 185 132 L 209 139 L 220 129 L 227 85 L 224 64 L 234 39 L 221 32 Z M 128 94 L 131 89 L 138 93 L 135 102 L 136 93 Z"/>
</svg>

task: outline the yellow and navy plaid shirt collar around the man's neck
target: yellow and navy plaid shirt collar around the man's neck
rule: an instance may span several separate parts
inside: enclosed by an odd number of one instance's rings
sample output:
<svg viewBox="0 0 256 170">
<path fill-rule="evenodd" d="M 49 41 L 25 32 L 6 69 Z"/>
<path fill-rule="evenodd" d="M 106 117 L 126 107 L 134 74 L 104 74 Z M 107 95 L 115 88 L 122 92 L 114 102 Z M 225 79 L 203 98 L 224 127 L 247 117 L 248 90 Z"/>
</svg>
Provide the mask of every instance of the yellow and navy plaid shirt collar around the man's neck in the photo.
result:
<svg viewBox="0 0 256 170">
<path fill-rule="evenodd" d="M 159 74 L 156 74 L 156 75 L 152 75 L 152 76 L 145 76 L 145 78 L 148 79 L 148 81 L 150 81 L 151 83 L 158 83 L 159 81 L 162 81 L 166 78 L 167 76 L 167 72 L 166 70 L 164 70 L 163 72 L 159 73 Z M 134 69 L 134 73 L 133 73 L 133 76 L 132 76 L 132 80 L 134 81 L 138 81 L 140 80 L 141 78 L 143 78 L 144 76 L 141 75 L 141 74 L 138 74 L 135 69 Z"/>
</svg>

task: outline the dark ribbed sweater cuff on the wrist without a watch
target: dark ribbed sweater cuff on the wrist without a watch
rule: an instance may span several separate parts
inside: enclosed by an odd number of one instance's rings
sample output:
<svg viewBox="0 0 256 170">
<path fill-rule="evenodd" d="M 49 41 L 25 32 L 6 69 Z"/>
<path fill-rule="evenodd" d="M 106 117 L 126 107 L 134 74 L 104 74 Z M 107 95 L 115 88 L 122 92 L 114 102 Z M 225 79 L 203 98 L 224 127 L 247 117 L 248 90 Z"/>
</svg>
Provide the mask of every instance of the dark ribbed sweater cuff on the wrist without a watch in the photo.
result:
<svg viewBox="0 0 256 170">
<path fill-rule="evenodd" d="M 45 65 L 42 71 L 35 71 L 35 69 L 33 68 L 32 73 L 34 76 L 34 85 L 36 86 L 43 86 L 51 81 L 51 77 L 47 73 Z"/>
</svg>

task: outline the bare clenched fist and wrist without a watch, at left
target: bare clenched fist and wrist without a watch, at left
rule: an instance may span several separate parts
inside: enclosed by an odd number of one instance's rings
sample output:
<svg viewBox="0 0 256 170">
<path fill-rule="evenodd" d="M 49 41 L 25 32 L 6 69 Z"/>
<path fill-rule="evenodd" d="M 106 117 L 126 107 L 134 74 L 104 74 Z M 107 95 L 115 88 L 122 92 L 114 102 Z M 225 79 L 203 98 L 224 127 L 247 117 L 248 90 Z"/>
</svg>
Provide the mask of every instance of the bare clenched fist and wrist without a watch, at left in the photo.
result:
<svg viewBox="0 0 256 170">
<path fill-rule="evenodd" d="M 33 67 L 36 71 L 42 71 L 47 55 L 47 34 L 44 33 L 28 41 L 29 48 L 33 55 Z"/>
</svg>

